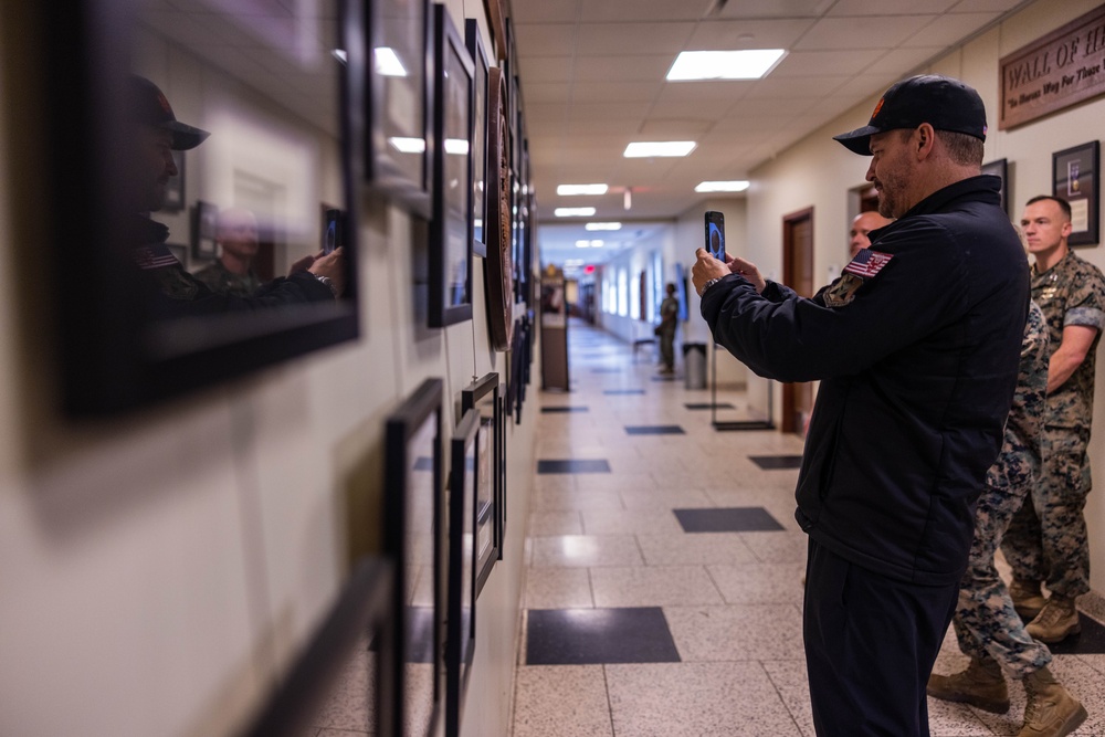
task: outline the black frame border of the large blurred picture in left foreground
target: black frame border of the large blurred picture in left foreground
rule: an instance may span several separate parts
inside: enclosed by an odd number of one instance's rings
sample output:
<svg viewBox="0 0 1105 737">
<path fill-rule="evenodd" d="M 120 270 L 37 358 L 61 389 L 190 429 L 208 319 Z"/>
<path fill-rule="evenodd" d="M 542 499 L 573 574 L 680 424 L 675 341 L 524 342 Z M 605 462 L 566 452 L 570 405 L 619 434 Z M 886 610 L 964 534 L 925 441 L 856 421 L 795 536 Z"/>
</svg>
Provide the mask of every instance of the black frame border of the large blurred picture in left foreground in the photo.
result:
<svg viewBox="0 0 1105 737">
<path fill-rule="evenodd" d="M 336 2 L 340 39 L 356 28 L 345 12 L 356 2 Z M 57 303 L 59 403 L 73 417 L 165 401 L 359 334 L 351 242 L 347 289 L 337 302 L 188 320 L 155 317 L 149 278 L 120 248 L 135 242 L 135 213 L 127 212 L 127 188 L 120 186 L 133 175 L 118 151 L 119 136 L 134 125 L 126 101 L 138 9 L 135 0 L 71 0 L 33 11 L 43 13 L 41 27 L 49 29 L 41 43 L 29 43 L 43 51 L 42 88 L 50 90 L 40 110 L 51 140 L 46 177 L 52 198 L 65 203 L 65 217 L 48 219 L 51 248 L 44 259 L 53 289 L 64 295 Z M 349 80 L 347 67 L 334 74 L 343 91 Z M 355 143 L 346 135 L 351 112 L 346 95 L 339 96 L 340 204 L 355 218 Z M 80 136 L 73 135 L 74 109 L 83 110 Z"/>
</svg>

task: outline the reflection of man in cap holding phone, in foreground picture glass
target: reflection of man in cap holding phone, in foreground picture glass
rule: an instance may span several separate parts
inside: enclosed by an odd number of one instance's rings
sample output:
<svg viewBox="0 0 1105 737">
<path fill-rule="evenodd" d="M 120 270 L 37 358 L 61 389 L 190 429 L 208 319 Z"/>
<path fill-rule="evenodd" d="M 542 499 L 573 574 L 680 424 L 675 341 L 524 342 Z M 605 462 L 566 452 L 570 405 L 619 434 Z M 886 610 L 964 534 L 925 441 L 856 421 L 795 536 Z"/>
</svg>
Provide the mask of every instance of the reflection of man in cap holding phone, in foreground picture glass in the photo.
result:
<svg viewBox="0 0 1105 737">
<path fill-rule="evenodd" d="M 177 120 L 169 101 L 149 80 L 133 75 L 128 87 L 134 148 L 128 186 L 136 214 L 128 231 L 134 263 L 148 277 L 147 304 L 155 317 L 170 318 L 252 310 L 284 304 L 334 301 L 345 288 L 341 249 L 307 256 L 287 277 L 273 280 L 249 296 L 217 294 L 185 271 L 169 251 L 169 229 L 149 218 L 165 204 L 169 179 L 177 176 L 172 151 L 189 150 L 210 135 Z"/>
</svg>

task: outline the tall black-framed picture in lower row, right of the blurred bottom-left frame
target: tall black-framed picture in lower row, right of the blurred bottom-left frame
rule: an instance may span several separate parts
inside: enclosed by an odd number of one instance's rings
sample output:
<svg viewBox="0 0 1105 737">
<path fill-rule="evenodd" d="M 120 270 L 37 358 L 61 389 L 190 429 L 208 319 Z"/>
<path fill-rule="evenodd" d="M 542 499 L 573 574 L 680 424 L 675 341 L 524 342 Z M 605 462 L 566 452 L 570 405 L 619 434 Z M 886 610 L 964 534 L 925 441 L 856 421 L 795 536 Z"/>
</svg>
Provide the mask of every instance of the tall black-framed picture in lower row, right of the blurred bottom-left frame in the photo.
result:
<svg viewBox="0 0 1105 737">
<path fill-rule="evenodd" d="M 446 561 L 448 561 L 448 517 L 445 502 L 445 485 L 443 483 L 443 441 L 442 441 L 442 402 L 443 402 L 442 380 L 438 378 L 425 379 L 413 393 L 388 418 L 385 430 L 386 459 L 385 459 L 385 525 L 383 539 L 385 550 L 398 562 L 396 572 L 396 590 L 399 596 L 394 597 L 394 620 L 397 633 L 397 647 L 392 678 L 397 684 L 402 684 L 398 688 L 396 701 L 397 723 L 400 734 L 404 737 L 430 737 L 438 734 L 438 725 L 442 718 L 441 703 L 444 696 L 443 677 L 445 668 L 445 607 L 446 607 Z M 432 450 L 430 456 L 418 455 L 419 449 L 412 442 L 421 438 L 420 433 L 427 433 L 432 428 Z M 424 439 L 422 439 L 424 440 Z M 423 449 L 424 450 L 424 449 Z M 427 507 L 425 498 L 419 499 L 418 492 L 425 493 L 424 483 L 422 486 L 415 484 L 417 473 L 425 473 L 425 459 L 430 459 L 431 478 L 429 501 L 431 507 L 430 519 L 417 514 L 420 508 Z M 424 482 L 425 480 L 423 480 Z M 427 549 L 427 540 L 417 535 L 418 525 L 425 526 L 429 523 L 430 547 Z M 421 543 L 421 547 L 418 544 Z M 411 724 L 411 715 L 408 706 L 413 701 L 412 680 L 407 678 L 407 670 L 415 668 L 419 664 L 424 664 L 427 653 L 418 650 L 417 638 L 422 633 L 417 629 L 425 624 L 424 614 L 420 608 L 414 606 L 413 597 L 415 585 L 415 570 L 413 565 L 424 561 L 429 556 L 432 566 L 433 607 L 430 608 L 430 664 L 432 672 L 433 693 L 428 694 L 432 702 L 430 715 L 425 724 Z M 424 571 L 423 571 L 424 573 Z M 424 609 L 424 608 L 423 608 Z M 424 647 L 424 643 L 423 644 Z M 423 699 L 424 701 L 424 699 Z"/>
</svg>

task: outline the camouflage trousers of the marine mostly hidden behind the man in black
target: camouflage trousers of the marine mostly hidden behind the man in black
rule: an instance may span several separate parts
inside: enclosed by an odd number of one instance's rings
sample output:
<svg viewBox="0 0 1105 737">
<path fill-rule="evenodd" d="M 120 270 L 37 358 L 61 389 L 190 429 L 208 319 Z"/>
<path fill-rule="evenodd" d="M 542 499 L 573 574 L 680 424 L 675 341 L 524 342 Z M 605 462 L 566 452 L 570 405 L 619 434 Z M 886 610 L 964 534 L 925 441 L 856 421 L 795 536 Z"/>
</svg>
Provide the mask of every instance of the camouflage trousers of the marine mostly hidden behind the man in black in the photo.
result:
<svg viewBox="0 0 1105 737">
<path fill-rule="evenodd" d="M 1009 477 L 1031 480 L 1027 456 L 1006 456 Z M 1020 466 L 1020 467 L 1019 467 Z M 1020 473 L 1018 473 L 1020 472 Z M 1051 651 L 1024 631 L 1013 609 L 1009 589 L 998 576 L 993 556 L 1013 515 L 1022 506 L 1031 482 L 994 487 L 987 485 L 975 513 L 975 541 L 967 571 L 959 583 L 959 602 L 951 622 L 959 650 L 977 660 L 994 660 L 1018 678 L 1051 662 Z"/>
</svg>

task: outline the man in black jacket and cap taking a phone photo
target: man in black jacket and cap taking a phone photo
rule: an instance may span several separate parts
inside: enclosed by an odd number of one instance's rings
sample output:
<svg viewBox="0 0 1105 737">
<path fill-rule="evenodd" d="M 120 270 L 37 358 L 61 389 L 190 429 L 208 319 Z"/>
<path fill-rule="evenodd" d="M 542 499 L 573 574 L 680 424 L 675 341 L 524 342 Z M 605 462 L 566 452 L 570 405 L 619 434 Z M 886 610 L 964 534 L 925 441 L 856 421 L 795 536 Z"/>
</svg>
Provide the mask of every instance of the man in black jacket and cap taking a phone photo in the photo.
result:
<svg viewBox="0 0 1105 737">
<path fill-rule="evenodd" d="M 818 734 L 928 735 L 925 686 L 998 455 L 1029 305 L 1024 252 L 980 176 L 986 112 L 944 76 L 899 82 L 835 139 L 870 155 L 878 212 L 812 299 L 697 253 L 714 334 L 756 373 L 820 380 L 796 493 Z"/>
</svg>

